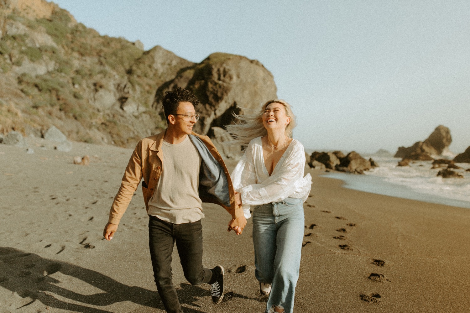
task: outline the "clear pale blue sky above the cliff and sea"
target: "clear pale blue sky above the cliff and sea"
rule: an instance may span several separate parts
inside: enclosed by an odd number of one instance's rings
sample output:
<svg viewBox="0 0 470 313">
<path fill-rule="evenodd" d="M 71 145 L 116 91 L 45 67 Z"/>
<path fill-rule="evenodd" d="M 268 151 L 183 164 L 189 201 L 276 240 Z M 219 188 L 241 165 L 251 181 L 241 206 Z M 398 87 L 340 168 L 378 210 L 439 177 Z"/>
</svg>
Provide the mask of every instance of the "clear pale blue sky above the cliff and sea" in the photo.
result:
<svg viewBox="0 0 470 313">
<path fill-rule="evenodd" d="M 55 0 L 102 35 L 199 63 L 260 61 L 306 149 L 394 153 L 450 128 L 470 146 L 468 0 Z M 268 99 L 266 99 L 268 100 Z"/>
</svg>

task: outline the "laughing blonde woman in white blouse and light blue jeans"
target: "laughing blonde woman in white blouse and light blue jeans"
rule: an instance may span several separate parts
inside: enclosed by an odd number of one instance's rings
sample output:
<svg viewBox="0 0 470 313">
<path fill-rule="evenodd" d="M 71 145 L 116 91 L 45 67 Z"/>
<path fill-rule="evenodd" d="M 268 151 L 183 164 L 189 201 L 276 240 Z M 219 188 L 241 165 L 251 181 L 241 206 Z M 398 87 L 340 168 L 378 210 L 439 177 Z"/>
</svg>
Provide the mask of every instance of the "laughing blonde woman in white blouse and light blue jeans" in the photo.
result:
<svg viewBox="0 0 470 313">
<path fill-rule="evenodd" d="M 244 123 L 227 127 L 230 145 L 246 149 L 231 177 L 245 218 L 253 209 L 255 276 L 261 294 L 269 295 L 265 312 L 291 313 L 304 237 L 302 203 L 312 184 L 310 174 L 304 177 L 304 147 L 291 138 L 295 116 L 285 101 L 271 100 L 258 115 L 237 117 Z"/>
</svg>

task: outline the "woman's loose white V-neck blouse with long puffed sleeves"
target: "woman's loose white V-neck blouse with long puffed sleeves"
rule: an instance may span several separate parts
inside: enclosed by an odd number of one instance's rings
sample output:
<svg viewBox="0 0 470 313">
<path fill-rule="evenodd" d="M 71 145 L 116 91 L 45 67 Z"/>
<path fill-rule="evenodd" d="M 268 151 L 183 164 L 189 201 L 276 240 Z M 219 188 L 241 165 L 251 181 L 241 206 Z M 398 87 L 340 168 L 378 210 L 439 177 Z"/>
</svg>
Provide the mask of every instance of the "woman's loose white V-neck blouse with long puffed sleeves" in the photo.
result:
<svg viewBox="0 0 470 313">
<path fill-rule="evenodd" d="M 278 202 L 287 197 L 305 202 L 312 188 L 312 176 L 307 173 L 304 177 L 304 168 L 304 146 L 293 139 L 269 176 L 261 137 L 250 141 L 231 175 L 235 191 L 242 196 L 245 218 L 251 217 L 251 205 Z"/>
</svg>

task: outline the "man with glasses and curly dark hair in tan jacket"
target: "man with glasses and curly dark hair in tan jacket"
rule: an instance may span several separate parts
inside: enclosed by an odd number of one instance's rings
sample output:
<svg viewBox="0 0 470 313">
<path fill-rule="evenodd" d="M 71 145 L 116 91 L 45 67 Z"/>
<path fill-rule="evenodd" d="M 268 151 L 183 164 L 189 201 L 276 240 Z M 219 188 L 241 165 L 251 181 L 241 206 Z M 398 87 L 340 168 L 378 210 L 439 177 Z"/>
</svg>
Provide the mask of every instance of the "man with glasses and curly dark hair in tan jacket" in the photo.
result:
<svg viewBox="0 0 470 313">
<path fill-rule="evenodd" d="M 202 202 L 217 203 L 232 219 L 228 231 L 241 234 L 246 225 L 240 203 L 235 205 L 232 181 L 219 152 L 207 136 L 192 131 L 199 119 L 196 96 L 178 87 L 163 98 L 168 128 L 142 139 L 127 164 L 110 210 L 104 237 L 111 240 L 119 220 L 143 178 L 142 192 L 149 214 L 149 247 L 158 294 L 168 313 L 181 313 L 172 283 L 174 243 L 184 276 L 193 285 L 211 284 L 212 301 L 223 298 L 222 266 L 202 265 Z"/>
</svg>

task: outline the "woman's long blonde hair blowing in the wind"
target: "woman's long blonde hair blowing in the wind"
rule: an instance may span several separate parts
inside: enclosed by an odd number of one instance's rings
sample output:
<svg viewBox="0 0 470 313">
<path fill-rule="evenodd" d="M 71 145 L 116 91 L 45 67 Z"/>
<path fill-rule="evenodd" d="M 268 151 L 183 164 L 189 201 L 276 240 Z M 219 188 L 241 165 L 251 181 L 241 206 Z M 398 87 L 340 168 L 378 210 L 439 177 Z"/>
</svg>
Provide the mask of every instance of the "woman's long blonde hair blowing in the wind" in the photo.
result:
<svg viewBox="0 0 470 313">
<path fill-rule="evenodd" d="M 286 115 L 290 117 L 290 123 L 286 126 L 285 134 L 288 137 L 292 137 L 292 130 L 296 126 L 295 115 L 292 113 L 289 103 L 284 100 L 276 99 L 269 100 L 263 104 L 259 113 L 245 115 L 234 114 L 239 120 L 238 123 L 227 125 L 227 133 L 232 136 L 233 141 L 225 141 L 224 144 L 242 146 L 244 149 L 252 139 L 267 135 L 266 128 L 263 125 L 263 113 L 266 107 L 271 103 L 282 104 L 286 109 Z"/>
</svg>

